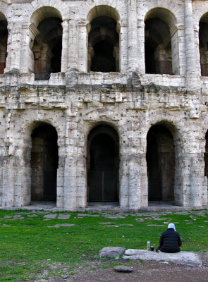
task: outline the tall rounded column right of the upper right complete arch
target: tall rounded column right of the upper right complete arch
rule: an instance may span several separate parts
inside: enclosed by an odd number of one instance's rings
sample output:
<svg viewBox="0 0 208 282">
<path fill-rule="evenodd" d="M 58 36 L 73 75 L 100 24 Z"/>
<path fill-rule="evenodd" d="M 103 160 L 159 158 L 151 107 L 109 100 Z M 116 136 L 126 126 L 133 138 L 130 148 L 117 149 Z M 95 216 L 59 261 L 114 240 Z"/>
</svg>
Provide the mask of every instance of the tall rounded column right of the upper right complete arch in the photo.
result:
<svg viewBox="0 0 208 282">
<path fill-rule="evenodd" d="M 195 72 L 195 37 L 192 17 L 192 0 L 185 0 L 184 3 L 186 86 L 190 89 L 198 86 L 199 73 Z"/>
</svg>

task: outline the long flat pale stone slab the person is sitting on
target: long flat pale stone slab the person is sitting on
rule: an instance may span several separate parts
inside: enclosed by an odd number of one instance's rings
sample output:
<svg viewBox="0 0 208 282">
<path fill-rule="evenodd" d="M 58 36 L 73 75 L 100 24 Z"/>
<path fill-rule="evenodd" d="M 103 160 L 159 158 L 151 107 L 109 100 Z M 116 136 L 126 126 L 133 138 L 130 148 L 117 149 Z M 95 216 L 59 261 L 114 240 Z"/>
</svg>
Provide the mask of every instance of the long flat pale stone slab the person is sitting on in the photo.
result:
<svg viewBox="0 0 208 282">
<path fill-rule="evenodd" d="M 154 260 L 157 262 L 167 261 L 177 264 L 186 264 L 190 266 L 201 266 L 202 260 L 195 252 L 176 252 L 169 254 L 166 252 L 149 252 L 147 250 L 128 249 L 123 255 L 123 259 L 142 259 Z"/>
</svg>

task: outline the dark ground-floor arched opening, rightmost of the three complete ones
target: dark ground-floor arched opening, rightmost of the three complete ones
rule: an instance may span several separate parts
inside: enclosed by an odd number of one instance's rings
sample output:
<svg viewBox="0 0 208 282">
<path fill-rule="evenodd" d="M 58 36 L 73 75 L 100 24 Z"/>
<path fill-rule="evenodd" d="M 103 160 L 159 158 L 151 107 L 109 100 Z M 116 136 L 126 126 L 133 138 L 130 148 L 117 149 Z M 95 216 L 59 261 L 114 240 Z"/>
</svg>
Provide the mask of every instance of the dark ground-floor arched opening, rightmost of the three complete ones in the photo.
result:
<svg viewBox="0 0 208 282">
<path fill-rule="evenodd" d="M 147 134 L 147 176 L 149 201 L 174 201 L 175 152 L 173 136 L 163 125 Z"/>
</svg>

